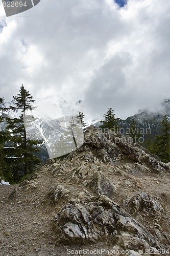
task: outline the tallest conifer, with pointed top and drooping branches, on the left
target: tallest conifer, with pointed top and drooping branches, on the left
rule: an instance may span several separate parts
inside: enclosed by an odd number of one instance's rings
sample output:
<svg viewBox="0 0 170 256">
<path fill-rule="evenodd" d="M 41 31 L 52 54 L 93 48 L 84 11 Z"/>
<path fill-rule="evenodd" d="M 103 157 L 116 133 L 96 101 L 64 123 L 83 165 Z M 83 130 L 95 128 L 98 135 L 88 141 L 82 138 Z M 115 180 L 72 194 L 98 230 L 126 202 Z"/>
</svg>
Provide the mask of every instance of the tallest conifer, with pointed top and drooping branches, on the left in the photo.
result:
<svg viewBox="0 0 170 256">
<path fill-rule="evenodd" d="M 27 118 L 26 111 L 34 109 L 33 102 L 33 97 L 22 84 L 19 94 L 13 96 L 13 105 L 10 106 L 12 111 L 19 112 L 19 117 L 7 118 L 7 129 L 11 134 L 9 142 L 11 152 L 8 161 L 12 165 L 15 181 L 32 173 L 34 166 L 40 162 L 40 159 L 34 155 L 38 151 L 38 141 L 28 138 L 24 125 L 24 120 Z"/>
</svg>

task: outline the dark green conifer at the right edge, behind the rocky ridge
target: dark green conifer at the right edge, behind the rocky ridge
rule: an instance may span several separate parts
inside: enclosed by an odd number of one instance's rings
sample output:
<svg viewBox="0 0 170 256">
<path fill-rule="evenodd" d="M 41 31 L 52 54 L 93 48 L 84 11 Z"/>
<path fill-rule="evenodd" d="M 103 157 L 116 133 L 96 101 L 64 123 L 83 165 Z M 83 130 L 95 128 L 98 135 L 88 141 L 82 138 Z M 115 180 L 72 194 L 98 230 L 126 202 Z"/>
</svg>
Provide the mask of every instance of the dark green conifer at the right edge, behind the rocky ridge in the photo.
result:
<svg viewBox="0 0 170 256">
<path fill-rule="evenodd" d="M 160 124 L 160 135 L 156 136 L 150 151 L 167 163 L 170 162 L 170 122 L 168 116 L 164 115 Z"/>
</svg>

